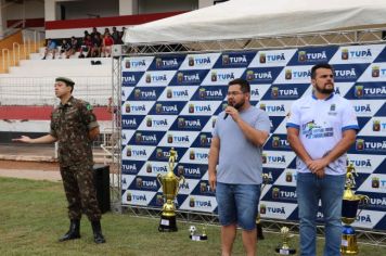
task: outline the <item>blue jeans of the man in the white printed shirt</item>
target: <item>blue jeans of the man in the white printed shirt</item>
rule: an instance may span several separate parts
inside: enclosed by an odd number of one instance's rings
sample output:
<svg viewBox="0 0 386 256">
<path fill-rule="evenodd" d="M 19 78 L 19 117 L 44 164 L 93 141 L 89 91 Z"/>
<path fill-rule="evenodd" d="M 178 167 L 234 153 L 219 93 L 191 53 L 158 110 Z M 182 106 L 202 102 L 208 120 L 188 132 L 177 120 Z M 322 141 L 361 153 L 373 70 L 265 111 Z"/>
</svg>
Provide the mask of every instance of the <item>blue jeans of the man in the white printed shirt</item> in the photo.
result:
<svg viewBox="0 0 386 256">
<path fill-rule="evenodd" d="M 340 255 L 342 200 L 345 189 L 345 175 L 325 175 L 320 179 L 313 174 L 297 174 L 297 203 L 300 219 L 300 251 L 304 256 L 314 256 L 317 239 L 317 214 L 319 200 L 325 228 L 325 256 Z"/>
</svg>

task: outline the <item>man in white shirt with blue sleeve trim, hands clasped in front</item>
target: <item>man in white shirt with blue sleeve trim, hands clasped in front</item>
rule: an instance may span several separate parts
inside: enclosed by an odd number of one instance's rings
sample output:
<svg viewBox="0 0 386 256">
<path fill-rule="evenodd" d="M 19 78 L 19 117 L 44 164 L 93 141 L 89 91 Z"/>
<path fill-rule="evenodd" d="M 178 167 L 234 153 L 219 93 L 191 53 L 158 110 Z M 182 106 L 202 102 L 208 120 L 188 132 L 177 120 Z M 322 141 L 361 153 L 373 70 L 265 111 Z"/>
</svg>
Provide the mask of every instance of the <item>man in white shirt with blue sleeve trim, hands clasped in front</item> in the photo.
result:
<svg viewBox="0 0 386 256">
<path fill-rule="evenodd" d="M 301 255 L 316 255 L 319 200 L 325 223 L 324 255 L 340 255 L 342 200 L 346 152 L 358 121 L 348 100 L 334 93 L 334 71 L 326 63 L 311 68 L 313 93 L 292 105 L 287 139 L 297 155 L 297 201 Z"/>
</svg>

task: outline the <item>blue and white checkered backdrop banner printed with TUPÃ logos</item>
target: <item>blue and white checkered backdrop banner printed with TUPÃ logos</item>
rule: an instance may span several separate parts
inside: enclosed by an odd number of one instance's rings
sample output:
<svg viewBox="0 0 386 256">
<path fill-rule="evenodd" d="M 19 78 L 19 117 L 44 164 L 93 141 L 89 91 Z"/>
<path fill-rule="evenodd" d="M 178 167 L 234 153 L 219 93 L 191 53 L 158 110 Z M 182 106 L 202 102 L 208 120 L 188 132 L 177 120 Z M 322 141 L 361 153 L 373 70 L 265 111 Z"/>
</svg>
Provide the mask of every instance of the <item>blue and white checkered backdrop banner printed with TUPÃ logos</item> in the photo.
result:
<svg viewBox="0 0 386 256">
<path fill-rule="evenodd" d="M 358 171 L 356 190 L 370 196 L 353 227 L 386 230 L 386 48 L 385 44 L 268 51 L 155 54 L 123 59 L 124 205 L 162 207 L 156 180 L 166 174 L 168 152 L 178 152 L 183 175 L 176 207 L 217 214 L 208 185 L 208 152 L 216 118 L 227 106 L 228 82 L 250 82 L 253 105 L 271 119 L 263 146 L 262 218 L 297 220 L 296 156 L 286 141 L 286 115 L 294 100 L 312 93 L 310 68 L 335 68 L 335 92 L 350 100 L 360 130 L 348 161 Z M 237 159 L 234 159 L 237 161 Z M 321 209 L 318 217 L 323 218 Z"/>
</svg>

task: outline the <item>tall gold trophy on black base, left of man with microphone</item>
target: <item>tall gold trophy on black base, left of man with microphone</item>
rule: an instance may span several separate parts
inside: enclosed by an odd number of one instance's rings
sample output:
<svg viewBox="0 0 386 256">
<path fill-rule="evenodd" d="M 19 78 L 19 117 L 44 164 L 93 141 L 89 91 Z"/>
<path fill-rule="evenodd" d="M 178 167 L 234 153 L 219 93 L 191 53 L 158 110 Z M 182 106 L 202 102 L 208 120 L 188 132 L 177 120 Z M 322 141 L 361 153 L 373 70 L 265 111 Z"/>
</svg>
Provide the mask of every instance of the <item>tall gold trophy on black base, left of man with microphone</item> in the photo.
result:
<svg viewBox="0 0 386 256">
<path fill-rule="evenodd" d="M 160 215 L 159 232 L 176 232 L 176 206 L 175 199 L 180 188 L 180 181 L 184 182 L 183 176 L 177 177 L 173 172 L 177 159 L 177 151 L 173 148 L 169 151 L 169 170 L 166 175 L 157 175 L 157 180 L 163 188 L 164 206 Z"/>
</svg>

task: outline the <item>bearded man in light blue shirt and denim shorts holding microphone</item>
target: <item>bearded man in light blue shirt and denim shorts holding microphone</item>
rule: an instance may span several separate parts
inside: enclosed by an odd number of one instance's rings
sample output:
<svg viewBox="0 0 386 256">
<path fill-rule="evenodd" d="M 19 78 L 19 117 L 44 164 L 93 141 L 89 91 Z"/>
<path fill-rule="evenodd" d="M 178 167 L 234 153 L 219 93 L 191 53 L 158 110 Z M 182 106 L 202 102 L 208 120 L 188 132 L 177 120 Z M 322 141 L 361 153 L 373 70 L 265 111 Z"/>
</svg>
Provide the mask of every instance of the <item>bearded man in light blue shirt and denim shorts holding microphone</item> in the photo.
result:
<svg viewBox="0 0 386 256">
<path fill-rule="evenodd" d="M 270 120 L 266 112 L 250 105 L 249 99 L 248 81 L 230 81 L 228 107 L 218 116 L 213 131 L 208 174 L 210 188 L 216 190 L 222 256 L 232 253 L 237 225 L 243 229 L 246 255 L 256 254 L 261 151 Z"/>
</svg>

